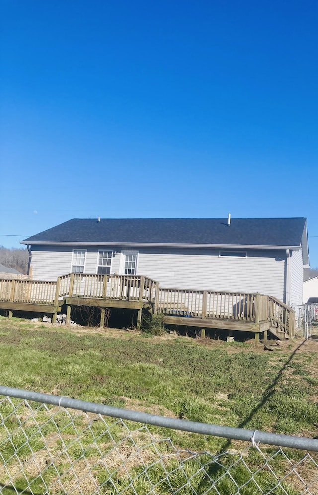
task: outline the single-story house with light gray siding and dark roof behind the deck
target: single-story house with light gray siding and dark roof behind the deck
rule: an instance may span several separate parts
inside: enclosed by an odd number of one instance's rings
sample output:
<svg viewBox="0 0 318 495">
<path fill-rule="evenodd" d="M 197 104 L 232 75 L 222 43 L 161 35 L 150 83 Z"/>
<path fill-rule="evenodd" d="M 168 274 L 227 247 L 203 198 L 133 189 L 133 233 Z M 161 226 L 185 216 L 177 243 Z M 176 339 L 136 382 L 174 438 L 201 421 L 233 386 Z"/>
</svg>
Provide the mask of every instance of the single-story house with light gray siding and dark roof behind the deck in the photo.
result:
<svg viewBox="0 0 318 495">
<path fill-rule="evenodd" d="M 146 275 L 161 287 L 303 300 L 305 218 L 73 219 L 22 244 L 34 280 L 69 273 Z"/>
</svg>

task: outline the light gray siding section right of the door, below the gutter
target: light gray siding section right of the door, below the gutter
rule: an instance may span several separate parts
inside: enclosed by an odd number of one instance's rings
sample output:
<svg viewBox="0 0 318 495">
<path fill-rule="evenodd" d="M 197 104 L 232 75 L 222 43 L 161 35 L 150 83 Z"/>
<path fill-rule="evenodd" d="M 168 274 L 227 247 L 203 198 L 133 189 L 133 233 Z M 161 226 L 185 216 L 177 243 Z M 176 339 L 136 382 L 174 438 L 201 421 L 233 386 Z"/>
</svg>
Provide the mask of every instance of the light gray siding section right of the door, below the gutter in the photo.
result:
<svg viewBox="0 0 318 495">
<path fill-rule="evenodd" d="M 284 299 L 286 256 L 282 251 L 247 251 L 246 258 L 219 257 L 219 250 L 140 249 L 139 275 L 162 287 L 260 292 Z"/>
</svg>

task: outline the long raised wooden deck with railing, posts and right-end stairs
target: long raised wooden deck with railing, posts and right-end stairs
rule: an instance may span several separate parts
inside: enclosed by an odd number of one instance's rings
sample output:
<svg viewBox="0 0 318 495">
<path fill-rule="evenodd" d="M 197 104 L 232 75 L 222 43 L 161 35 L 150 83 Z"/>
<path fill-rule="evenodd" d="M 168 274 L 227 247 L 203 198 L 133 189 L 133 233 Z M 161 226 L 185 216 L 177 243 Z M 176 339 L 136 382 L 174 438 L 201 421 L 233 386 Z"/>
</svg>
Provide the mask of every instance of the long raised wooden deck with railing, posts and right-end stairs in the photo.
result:
<svg viewBox="0 0 318 495">
<path fill-rule="evenodd" d="M 294 335 L 294 311 L 275 297 L 245 292 L 162 288 L 146 276 L 70 273 L 56 282 L 0 279 L 0 309 L 53 315 L 67 305 L 137 309 L 163 313 L 172 325 L 254 332 L 269 330 L 279 338 Z"/>
</svg>

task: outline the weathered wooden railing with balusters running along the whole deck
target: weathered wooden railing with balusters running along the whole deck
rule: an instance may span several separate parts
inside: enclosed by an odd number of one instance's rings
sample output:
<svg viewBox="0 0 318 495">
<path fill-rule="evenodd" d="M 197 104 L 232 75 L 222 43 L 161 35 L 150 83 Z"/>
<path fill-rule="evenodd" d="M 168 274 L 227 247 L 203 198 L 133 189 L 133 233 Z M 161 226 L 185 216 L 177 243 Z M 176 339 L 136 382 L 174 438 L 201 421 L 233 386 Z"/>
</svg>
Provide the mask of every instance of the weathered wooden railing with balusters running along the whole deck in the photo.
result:
<svg viewBox="0 0 318 495">
<path fill-rule="evenodd" d="M 69 273 L 57 282 L 0 279 L 0 301 L 48 304 L 64 297 L 149 302 L 156 312 L 198 318 L 269 322 L 294 335 L 295 311 L 272 296 L 246 292 L 202 291 L 159 287 L 145 276 Z"/>
</svg>

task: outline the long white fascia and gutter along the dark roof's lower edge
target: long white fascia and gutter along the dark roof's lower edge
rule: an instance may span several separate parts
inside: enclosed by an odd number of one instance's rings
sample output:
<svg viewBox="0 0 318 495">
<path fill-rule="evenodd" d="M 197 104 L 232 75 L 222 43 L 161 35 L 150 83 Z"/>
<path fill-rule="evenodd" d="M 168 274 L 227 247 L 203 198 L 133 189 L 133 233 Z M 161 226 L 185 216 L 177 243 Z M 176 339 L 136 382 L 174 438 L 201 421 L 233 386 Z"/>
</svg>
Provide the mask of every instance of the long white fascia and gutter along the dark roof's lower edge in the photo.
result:
<svg viewBox="0 0 318 495">
<path fill-rule="evenodd" d="M 229 249 L 291 249 L 299 251 L 300 246 L 263 246 L 258 244 L 180 244 L 168 242 L 48 242 L 48 241 L 33 241 L 20 244 L 29 244 L 33 246 L 117 246 L 117 247 L 183 247 L 183 248 L 229 248 Z"/>
</svg>

